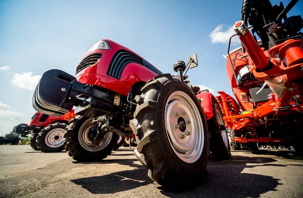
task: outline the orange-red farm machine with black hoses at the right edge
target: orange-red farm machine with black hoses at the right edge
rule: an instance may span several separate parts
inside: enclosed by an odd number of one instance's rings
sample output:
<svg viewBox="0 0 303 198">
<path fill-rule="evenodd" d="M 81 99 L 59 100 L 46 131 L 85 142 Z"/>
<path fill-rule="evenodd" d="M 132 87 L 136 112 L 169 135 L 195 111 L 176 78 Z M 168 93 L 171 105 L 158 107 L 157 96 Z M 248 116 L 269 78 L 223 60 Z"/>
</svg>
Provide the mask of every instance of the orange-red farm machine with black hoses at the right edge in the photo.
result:
<svg viewBox="0 0 303 198">
<path fill-rule="evenodd" d="M 236 99 L 224 92 L 216 97 L 234 149 L 292 146 L 302 154 L 303 20 L 286 16 L 296 2 L 284 8 L 267 0 L 243 1 L 241 21 L 233 26 L 242 47 L 232 52 L 228 47 L 226 63 Z"/>
</svg>

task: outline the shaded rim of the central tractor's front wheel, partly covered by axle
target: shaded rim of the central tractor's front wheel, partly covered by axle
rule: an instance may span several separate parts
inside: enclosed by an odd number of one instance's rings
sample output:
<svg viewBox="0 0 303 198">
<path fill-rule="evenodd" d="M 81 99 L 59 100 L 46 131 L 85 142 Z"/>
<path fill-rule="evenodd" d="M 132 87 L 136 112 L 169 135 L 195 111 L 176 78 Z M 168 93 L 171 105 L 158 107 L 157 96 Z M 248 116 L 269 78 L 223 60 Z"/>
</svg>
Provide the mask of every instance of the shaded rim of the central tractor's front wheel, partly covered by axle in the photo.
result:
<svg viewBox="0 0 303 198">
<path fill-rule="evenodd" d="M 86 120 L 82 126 L 79 129 L 78 139 L 79 143 L 82 146 L 83 149 L 90 152 L 97 152 L 103 150 L 105 147 L 107 147 L 112 138 L 113 133 L 109 132 L 104 136 L 104 139 L 101 140 L 97 145 L 92 144 L 91 140 L 88 137 L 88 132 L 91 127 L 93 127 L 95 124 L 91 122 L 91 119 Z"/>
</svg>

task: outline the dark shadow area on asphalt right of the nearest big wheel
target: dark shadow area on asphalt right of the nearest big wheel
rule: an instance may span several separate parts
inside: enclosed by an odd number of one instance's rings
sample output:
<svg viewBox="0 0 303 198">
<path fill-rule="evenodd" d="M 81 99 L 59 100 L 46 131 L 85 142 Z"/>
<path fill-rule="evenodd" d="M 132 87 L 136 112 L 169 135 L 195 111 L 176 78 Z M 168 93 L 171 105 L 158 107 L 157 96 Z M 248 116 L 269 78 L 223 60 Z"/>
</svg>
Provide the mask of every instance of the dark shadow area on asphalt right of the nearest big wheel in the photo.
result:
<svg viewBox="0 0 303 198">
<path fill-rule="evenodd" d="M 208 163 L 208 178 L 203 184 L 186 191 L 158 187 L 168 197 L 260 197 L 268 191 L 276 191 L 280 179 L 267 175 L 242 173 L 244 168 L 284 167 L 286 165 L 267 164 L 277 160 L 272 158 L 233 156 L 230 161 Z M 247 165 L 254 164 L 254 165 Z"/>
</svg>

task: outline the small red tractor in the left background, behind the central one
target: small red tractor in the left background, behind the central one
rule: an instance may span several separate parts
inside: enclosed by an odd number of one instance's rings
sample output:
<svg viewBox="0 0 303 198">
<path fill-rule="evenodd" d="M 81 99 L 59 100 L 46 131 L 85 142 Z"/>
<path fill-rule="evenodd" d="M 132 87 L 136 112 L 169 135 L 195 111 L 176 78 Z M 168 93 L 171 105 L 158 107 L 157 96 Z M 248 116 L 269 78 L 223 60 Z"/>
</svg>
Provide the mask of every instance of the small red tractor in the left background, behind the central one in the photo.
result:
<svg viewBox="0 0 303 198">
<path fill-rule="evenodd" d="M 36 151 L 60 152 L 64 150 L 66 124 L 73 118 L 74 109 L 58 117 L 36 112 L 29 123 L 14 128 L 17 134 L 31 134 L 30 146 Z"/>
</svg>

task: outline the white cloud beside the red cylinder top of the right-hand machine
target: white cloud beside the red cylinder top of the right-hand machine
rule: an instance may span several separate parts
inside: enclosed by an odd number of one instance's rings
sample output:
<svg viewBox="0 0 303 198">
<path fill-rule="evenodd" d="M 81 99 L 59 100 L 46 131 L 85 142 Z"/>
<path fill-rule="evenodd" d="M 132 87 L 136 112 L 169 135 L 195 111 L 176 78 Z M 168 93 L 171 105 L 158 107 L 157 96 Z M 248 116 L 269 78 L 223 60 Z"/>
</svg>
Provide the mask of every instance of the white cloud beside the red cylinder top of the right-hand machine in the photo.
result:
<svg viewBox="0 0 303 198">
<path fill-rule="evenodd" d="M 210 34 L 212 43 L 223 43 L 228 44 L 229 38 L 236 32 L 232 26 L 225 26 L 223 24 L 218 25 Z M 237 36 L 232 38 L 232 45 L 240 45 L 240 40 Z"/>
</svg>

